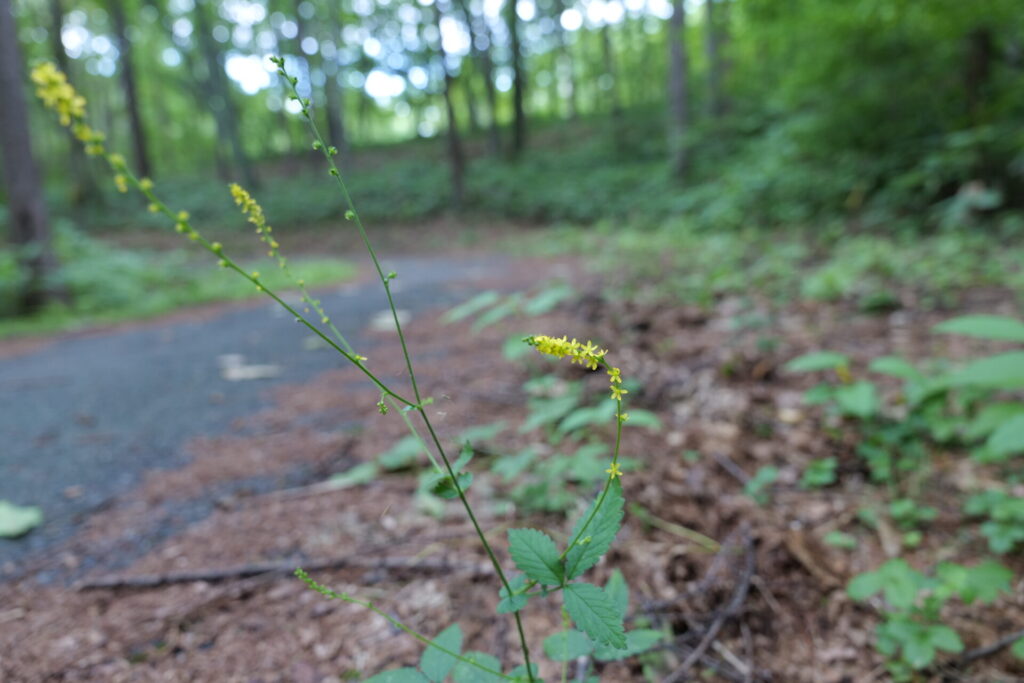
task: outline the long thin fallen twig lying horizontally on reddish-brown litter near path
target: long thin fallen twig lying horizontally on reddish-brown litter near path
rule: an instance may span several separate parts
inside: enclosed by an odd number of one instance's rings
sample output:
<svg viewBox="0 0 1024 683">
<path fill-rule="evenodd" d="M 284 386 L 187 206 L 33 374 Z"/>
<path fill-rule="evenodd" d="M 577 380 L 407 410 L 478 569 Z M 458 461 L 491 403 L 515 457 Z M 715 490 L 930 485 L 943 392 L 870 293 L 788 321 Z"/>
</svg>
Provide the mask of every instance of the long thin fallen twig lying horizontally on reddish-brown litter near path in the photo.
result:
<svg viewBox="0 0 1024 683">
<path fill-rule="evenodd" d="M 290 573 L 297 566 L 307 570 L 343 569 L 356 567 L 362 569 L 401 569 L 404 571 L 445 571 L 469 573 L 473 578 L 489 577 L 494 569 L 489 565 L 453 564 L 447 560 L 424 560 L 404 557 L 384 557 L 367 559 L 365 557 L 346 555 L 321 560 L 278 560 L 274 562 L 255 562 L 215 569 L 193 569 L 187 571 L 170 571 L 160 574 L 123 575 L 112 574 L 80 582 L 76 589 L 85 591 L 99 588 L 158 588 L 171 584 L 187 584 L 197 581 L 208 583 L 246 579 L 266 573 Z"/>
</svg>

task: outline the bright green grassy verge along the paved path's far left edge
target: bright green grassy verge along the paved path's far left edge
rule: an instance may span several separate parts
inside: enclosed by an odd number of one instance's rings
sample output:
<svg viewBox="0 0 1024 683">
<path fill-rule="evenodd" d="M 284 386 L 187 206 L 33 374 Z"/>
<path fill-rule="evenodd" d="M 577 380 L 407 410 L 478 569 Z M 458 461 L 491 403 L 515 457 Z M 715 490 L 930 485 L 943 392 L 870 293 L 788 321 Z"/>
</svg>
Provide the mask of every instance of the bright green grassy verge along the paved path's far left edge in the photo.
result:
<svg viewBox="0 0 1024 683">
<path fill-rule="evenodd" d="M 0 251 L 0 339 L 78 330 L 97 325 L 153 317 L 197 304 L 260 296 L 234 273 L 217 268 L 205 255 L 187 248 L 171 251 L 127 250 L 61 226 L 56 231 L 61 262 L 59 285 L 70 304 L 52 305 L 31 317 L 10 316 L 18 282 L 14 256 Z M 290 283 L 272 264 L 253 261 L 274 289 Z M 338 258 L 296 259 L 293 270 L 309 287 L 350 280 L 355 266 Z"/>
</svg>

